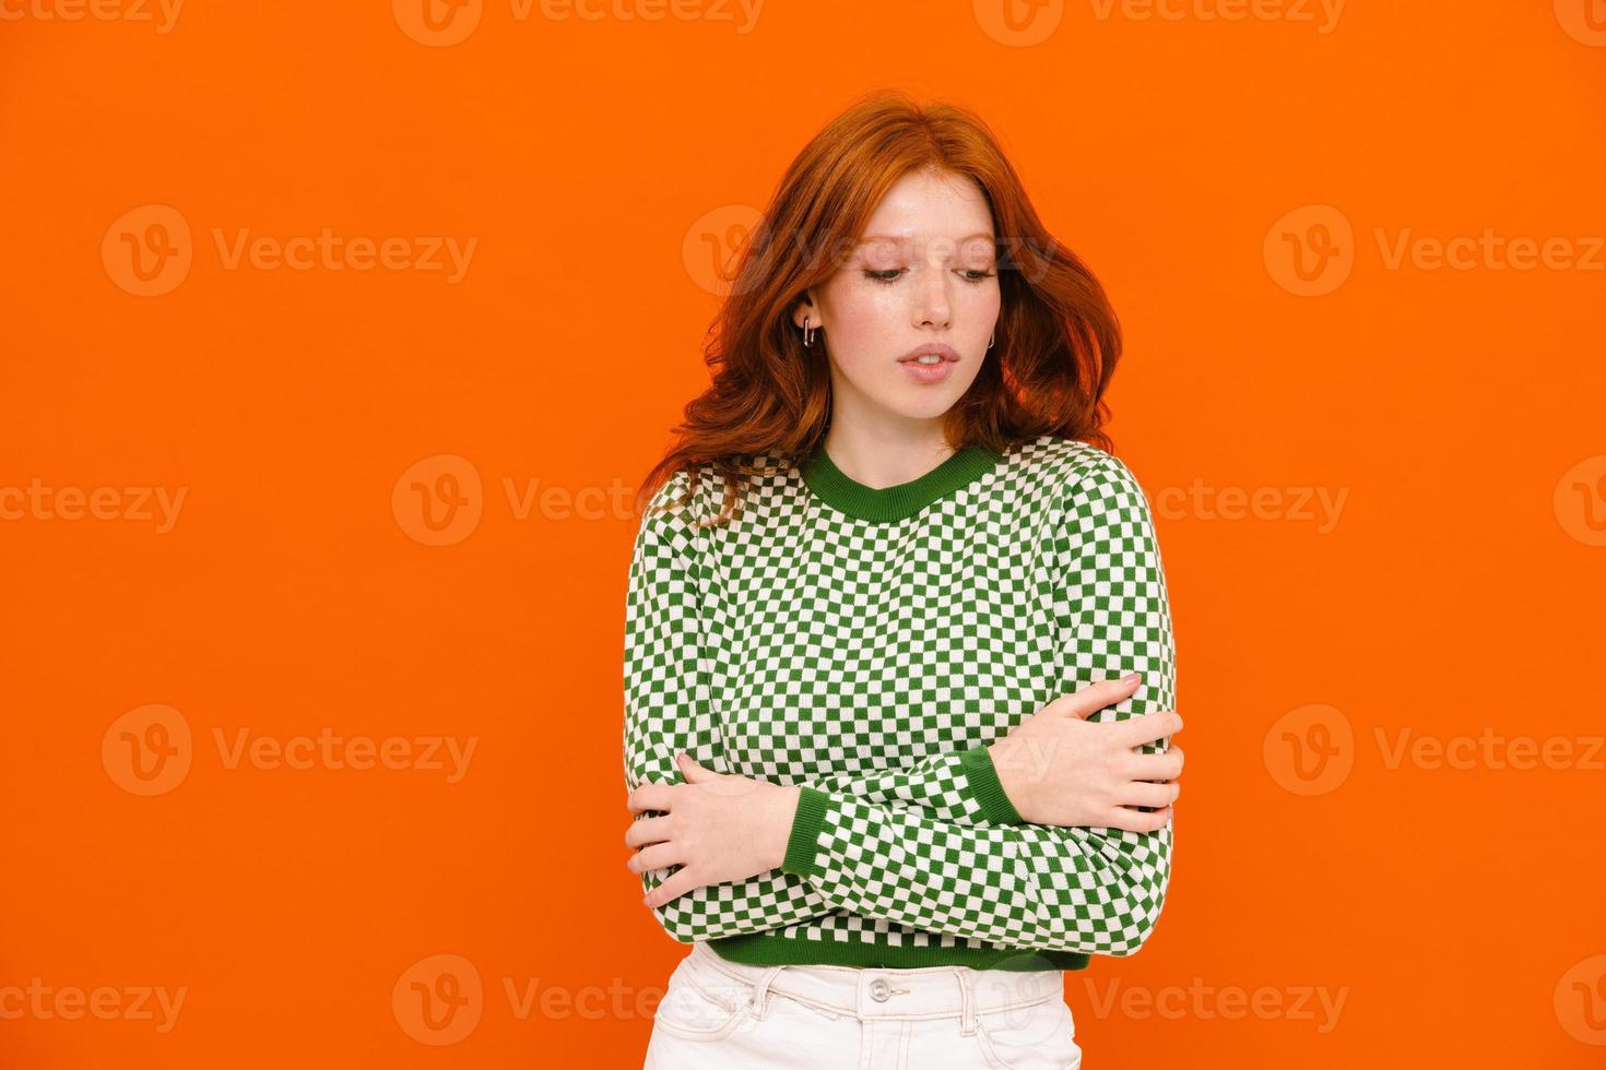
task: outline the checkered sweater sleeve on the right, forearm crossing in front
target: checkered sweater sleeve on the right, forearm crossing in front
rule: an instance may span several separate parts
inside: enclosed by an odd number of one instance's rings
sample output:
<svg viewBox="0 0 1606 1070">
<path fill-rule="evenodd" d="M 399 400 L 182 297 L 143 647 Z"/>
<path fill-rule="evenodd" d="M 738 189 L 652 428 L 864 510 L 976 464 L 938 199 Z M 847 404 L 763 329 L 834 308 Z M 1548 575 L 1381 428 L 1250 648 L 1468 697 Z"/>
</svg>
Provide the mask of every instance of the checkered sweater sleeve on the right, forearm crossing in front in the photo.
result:
<svg viewBox="0 0 1606 1070">
<path fill-rule="evenodd" d="M 1137 691 L 1090 720 L 1174 709 L 1171 610 L 1135 478 L 1118 459 L 1099 457 L 1066 492 L 1058 525 L 1058 693 L 1137 671 Z M 978 826 L 805 788 L 782 869 L 869 918 L 1017 948 L 1124 956 L 1160 916 L 1171 845 L 1171 823 L 1155 833 Z"/>
</svg>

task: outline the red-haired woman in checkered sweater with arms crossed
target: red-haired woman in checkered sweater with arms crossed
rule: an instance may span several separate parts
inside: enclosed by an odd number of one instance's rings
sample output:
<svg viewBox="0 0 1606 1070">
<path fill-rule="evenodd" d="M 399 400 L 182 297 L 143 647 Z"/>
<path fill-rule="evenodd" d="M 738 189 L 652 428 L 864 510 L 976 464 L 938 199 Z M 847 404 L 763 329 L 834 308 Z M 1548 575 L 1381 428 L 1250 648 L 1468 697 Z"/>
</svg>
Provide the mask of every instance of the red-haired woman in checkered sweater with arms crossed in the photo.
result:
<svg viewBox="0 0 1606 1070">
<path fill-rule="evenodd" d="M 1182 772 L 1103 290 L 980 119 L 878 95 L 716 326 L 626 595 L 628 866 L 692 943 L 646 1067 L 1078 1067 Z"/>
</svg>

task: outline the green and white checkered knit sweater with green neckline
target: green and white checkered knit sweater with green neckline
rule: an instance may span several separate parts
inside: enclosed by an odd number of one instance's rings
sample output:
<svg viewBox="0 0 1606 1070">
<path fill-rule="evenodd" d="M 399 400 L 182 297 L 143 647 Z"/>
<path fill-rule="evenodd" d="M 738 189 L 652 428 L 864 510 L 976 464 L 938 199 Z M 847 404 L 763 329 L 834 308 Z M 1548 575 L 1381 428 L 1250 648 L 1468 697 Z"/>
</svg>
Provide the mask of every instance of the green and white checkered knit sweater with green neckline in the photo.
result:
<svg viewBox="0 0 1606 1070">
<path fill-rule="evenodd" d="M 748 480 L 724 526 L 692 525 L 726 494 L 707 468 L 687 507 L 683 470 L 642 517 L 625 783 L 684 783 L 686 751 L 801 799 L 779 869 L 686 892 L 655 908 L 663 927 L 755 964 L 1070 971 L 1137 951 L 1171 825 L 1026 823 L 986 751 L 1132 671 L 1137 691 L 1092 720 L 1176 707 L 1160 547 L 1127 467 L 1050 435 L 967 446 L 890 488 L 822 448 L 801 467 L 756 460 L 779 473 Z"/>
</svg>

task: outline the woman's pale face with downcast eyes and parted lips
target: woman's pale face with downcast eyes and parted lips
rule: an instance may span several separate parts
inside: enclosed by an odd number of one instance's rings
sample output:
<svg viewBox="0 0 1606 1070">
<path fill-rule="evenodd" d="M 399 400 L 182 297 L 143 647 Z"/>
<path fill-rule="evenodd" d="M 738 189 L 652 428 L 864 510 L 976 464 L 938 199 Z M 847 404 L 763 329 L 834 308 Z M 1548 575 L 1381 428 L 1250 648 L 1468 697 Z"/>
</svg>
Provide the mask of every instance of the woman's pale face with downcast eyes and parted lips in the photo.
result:
<svg viewBox="0 0 1606 1070">
<path fill-rule="evenodd" d="M 811 297 L 792 321 L 822 329 L 832 422 L 941 417 L 975 382 L 999 318 L 986 197 L 962 175 L 904 175 Z M 948 347 L 940 364 L 899 361 L 925 343 Z"/>
</svg>

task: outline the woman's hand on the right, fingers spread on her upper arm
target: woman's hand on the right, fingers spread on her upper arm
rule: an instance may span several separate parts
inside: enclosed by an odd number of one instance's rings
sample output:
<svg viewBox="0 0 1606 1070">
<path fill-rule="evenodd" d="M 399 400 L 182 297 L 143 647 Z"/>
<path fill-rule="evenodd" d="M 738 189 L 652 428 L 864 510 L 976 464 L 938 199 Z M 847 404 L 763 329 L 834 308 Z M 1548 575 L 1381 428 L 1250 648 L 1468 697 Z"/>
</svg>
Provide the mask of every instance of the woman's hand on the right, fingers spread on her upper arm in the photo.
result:
<svg viewBox="0 0 1606 1070">
<path fill-rule="evenodd" d="M 1004 794 L 1021 818 L 1134 833 L 1164 828 L 1182 791 L 1182 748 L 1172 744 L 1164 754 L 1137 748 L 1182 732 L 1182 717 L 1163 709 L 1126 720 L 1084 720 L 1129 698 L 1137 682 L 1132 674 L 1124 683 L 1100 680 L 1062 695 L 988 746 Z"/>
</svg>

